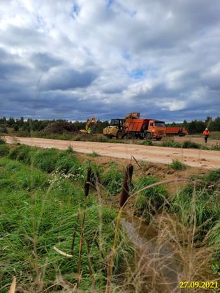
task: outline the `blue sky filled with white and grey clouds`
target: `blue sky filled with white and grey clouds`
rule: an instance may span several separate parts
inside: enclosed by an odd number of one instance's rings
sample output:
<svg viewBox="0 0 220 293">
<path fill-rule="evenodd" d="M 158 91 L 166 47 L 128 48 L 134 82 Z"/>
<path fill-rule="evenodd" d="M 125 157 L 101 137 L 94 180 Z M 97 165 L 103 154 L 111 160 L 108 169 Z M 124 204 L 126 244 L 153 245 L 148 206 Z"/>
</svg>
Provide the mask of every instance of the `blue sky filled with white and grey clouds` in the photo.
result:
<svg viewBox="0 0 220 293">
<path fill-rule="evenodd" d="M 219 0 L 0 0 L 0 117 L 220 116 Z"/>
</svg>

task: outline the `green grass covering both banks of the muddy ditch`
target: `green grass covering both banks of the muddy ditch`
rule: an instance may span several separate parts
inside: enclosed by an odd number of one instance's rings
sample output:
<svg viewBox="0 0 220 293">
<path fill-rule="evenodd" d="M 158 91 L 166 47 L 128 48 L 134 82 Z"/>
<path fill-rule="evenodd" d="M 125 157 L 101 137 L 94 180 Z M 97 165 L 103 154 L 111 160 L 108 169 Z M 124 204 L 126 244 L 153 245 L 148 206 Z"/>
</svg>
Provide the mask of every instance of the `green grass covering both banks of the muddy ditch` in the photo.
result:
<svg viewBox="0 0 220 293">
<path fill-rule="evenodd" d="M 103 170 L 103 166 L 91 163 L 91 183 L 98 179 L 102 186 L 85 197 L 88 163 L 80 163 L 72 149 L 61 152 L 24 145 L 9 149 L 2 144 L 0 156 L 1 292 L 7 292 L 13 276 L 17 287 L 29 292 L 50 287 L 72 290 L 76 284 L 80 290 L 103 290 L 117 216 L 106 202 L 122 188 L 122 168 L 111 162 Z M 155 186 L 134 197 L 133 213 L 148 223 L 162 215 L 163 220 L 157 222 L 157 241 L 166 238 L 173 242 L 184 277 L 184 272 L 188 278 L 200 276 L 198 263 L 204 266 L 210 262 L 214 273 L 220 271 L 219 171 L 205 178 L 198 176 L 198 186 L 185 186 L 175 195 L 169 195 L 164 186 Z M 133 192 L 157 181 L 143 174 L 133 181 Z M 74 257 L 60 255 L 53 246 Z M 186 250 L 188 256 L 189 250 L 193 251 L 193 259 L 187 260 Z M 117 278 L 124 271 L 122 259 L 129 262 L 130 257 L 133 249 L 120 230 L 113 270 L 117 281 L 112 282 L 116 292 L 123 283 Z M 130 273 L 123 278 L 128 279 L 126 290 L 135 276 L 131 278 Z"/>
</svg>

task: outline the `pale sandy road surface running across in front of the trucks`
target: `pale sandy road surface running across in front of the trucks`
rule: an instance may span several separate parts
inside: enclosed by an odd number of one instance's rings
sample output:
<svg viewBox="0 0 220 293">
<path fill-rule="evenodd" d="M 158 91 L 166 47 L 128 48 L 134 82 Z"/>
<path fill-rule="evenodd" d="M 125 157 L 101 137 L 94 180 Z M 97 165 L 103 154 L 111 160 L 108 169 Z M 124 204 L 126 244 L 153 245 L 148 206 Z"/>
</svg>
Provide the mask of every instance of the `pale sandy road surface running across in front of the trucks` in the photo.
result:
<svg viewBox="0 0 220 293">
<path fill-rule="evenodd" d="M 42 148 L 67 149 L 73 147 L 80 153 L 95 151 L 101 156 L 130 159 L 134 156 L 137 160 L 152 163 L 171 163 L 173 159 L 181 160 L 186 165 L 205 169 L 220 168 L 220 151 L 204 151 L 198 149 L 175 149 L 168 147 L 152 147 L 138 144 L 112 144 L 104 142 L 75 142 L 68 140 L 47 140 L 35 137 L 6 137 L 8 143 L 15 143 Z"/>
</svg>

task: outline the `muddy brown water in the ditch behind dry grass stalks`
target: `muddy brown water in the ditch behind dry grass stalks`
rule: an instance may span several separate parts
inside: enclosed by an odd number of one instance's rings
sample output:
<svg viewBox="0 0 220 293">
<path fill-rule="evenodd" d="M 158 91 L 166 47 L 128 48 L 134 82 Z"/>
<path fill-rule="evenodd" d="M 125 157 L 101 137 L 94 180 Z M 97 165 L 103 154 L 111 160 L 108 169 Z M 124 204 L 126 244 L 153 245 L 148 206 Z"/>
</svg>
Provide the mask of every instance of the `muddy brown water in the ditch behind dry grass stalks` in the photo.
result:
<svg viewBox="0 0 220 293">
<path fill-rule="evenodd" d="M 124 213 L 122 227 L 135 246 L 135 273 L 140 286 L 137 292 L 180 292 L 179 258 L 167 243 L 158 243 L 156 227 L 146 225 L 140 218 Z"/>
</svg>

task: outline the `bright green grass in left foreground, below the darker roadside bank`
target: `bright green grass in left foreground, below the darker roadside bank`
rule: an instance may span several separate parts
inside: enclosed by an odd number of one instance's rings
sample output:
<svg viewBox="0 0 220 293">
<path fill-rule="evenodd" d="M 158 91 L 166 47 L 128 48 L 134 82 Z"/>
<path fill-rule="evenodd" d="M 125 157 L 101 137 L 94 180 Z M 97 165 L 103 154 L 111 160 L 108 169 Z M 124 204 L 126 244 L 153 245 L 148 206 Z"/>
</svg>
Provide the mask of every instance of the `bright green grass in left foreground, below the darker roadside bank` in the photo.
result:
<svg viewBox="0 0 220 293">
<path fill-rule="evenodd" d="M 45 151 L 42 152 L 41 163 L 46 158 Z M 39 153 L 36 155 L 39 158 Z M 1 292 L 8 292 L 13 276 L 16 276 L 17 286 L 21 290 L 32 292 L 39 290 L 36 280 L 41 281 L 42 291 L 50 286 L 52 290 L 61 290 L 61 282 L 56 285 L 57 278 L 75 284 L 85 206 L 83 185 L 73 183 L 71 178 L 61 176 L 60 173 L 49 175 L 7 158 L 0 159 L 0 166 L 0 287 L 6 285 Z M 10 184 L 1 185 L 1 181 L 6 179 Z M 71 254 L 73 227 L 78 211 L 80 220 L 75 236 L 75 257 L 64 257 L 53 246 Z M 85 212 L 80 290 L 91 289 L 87 253 L 89 243 L 96 290 L 103 292 L 107 276 L 106 262 L 115 236 L 117 212 L 100 206 L 97 196 L 93 194 L 87 197 Z M 99 248 L 96 246 L 97 242 L 100 244 Z M 113 273 L 122 271 L 124 257 L 129 258 L 132 255 L 133 249 L 120 230 Z"/>
</svg>

